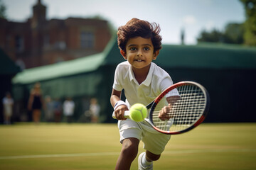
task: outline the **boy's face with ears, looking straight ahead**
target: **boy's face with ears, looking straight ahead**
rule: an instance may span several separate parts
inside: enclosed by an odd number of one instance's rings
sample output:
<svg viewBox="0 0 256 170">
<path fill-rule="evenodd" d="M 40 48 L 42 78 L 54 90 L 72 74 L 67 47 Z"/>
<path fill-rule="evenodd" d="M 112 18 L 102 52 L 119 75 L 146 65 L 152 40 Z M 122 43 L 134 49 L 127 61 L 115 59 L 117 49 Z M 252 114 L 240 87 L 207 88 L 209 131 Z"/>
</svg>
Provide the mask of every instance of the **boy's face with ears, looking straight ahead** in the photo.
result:
<svg viewBox="0 0 256 170">
<path fill-rule="evenodd" d="M 121 50 L 122 56 L 136 69 L 150 67 L 152 60 L 156 60 L 159 54 L 159 51 L 154 52 L 151 38 L 131 38 L 125 49 L 126 53 Z"/>
</svg>

